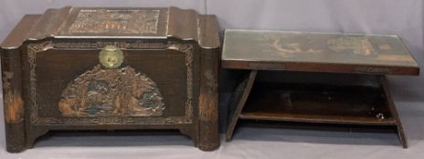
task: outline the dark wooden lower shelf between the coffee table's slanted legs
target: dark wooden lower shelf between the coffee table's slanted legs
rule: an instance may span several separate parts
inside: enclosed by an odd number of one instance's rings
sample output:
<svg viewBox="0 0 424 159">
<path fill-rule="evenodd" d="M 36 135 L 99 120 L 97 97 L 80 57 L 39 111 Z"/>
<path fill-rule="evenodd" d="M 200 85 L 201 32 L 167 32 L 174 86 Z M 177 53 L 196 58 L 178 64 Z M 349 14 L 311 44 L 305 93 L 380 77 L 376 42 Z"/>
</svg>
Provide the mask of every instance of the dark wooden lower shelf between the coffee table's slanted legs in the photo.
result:
<svg viewBox="0 0 424 159">
<path fill-rule="evenodd" d="M 379 88 L 255 84 L 241 119 L 323 124 L 396 125 Z"/>
</svg>

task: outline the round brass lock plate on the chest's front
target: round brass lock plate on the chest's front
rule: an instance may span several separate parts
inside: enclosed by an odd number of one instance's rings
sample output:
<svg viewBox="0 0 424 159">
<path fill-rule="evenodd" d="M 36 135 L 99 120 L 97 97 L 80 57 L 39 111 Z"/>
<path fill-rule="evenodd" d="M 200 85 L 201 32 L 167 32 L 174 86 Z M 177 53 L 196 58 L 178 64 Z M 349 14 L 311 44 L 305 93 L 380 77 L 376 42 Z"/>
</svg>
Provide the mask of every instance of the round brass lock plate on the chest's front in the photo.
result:
<svg viewBox="0 0 424 159">
<path fill-rule="evenodd" d="M 118 47 L 107 45 L 101 49 L 99 61 L 106 68 L 118 68 L 122 65 L 123 53 Z"/>
</svg>

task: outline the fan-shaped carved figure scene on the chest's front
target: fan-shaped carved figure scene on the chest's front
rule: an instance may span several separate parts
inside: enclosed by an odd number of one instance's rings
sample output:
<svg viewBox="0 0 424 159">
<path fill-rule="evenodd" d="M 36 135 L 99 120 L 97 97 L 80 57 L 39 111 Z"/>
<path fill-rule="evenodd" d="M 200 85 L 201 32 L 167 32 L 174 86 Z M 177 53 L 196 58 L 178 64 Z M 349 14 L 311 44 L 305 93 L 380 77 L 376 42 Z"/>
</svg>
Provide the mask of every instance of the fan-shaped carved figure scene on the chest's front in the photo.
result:
<svg viewBox="0 0 424 159">
<path fill-rule="evenodd" d="M 63 116 L 157 116 L 164 102 L 154 81 L 132 67 L 96 65 L 68 84 L 58 108 Z"/>
</svg>

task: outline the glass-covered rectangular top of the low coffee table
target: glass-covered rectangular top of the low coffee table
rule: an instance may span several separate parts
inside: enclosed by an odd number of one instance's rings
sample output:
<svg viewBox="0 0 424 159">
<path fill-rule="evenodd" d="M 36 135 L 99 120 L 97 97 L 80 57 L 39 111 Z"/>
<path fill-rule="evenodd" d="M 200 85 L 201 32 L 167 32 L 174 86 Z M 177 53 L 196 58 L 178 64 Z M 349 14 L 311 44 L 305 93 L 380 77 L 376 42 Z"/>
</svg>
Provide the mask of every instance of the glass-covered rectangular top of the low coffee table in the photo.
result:
<svg viewBox="0 0 424 159">
<path fill-rule="evenodd" d="M 419 75 L 396 35 L 226 30 L 221 58 L 232 69 Z"/>
</svg>

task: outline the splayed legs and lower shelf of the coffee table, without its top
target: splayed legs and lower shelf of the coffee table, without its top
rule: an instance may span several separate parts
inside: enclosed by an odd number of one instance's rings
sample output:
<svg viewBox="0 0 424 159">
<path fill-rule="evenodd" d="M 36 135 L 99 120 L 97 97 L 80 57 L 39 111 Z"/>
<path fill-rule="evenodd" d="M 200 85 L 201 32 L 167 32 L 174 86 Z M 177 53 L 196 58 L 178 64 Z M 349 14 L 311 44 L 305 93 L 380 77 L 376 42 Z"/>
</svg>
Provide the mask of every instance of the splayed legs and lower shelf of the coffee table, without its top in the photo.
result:
<svg viewBox="0 0 424 159">
<path fill-rule="evenodd" d="M 252 71 L 233 94 L 228 141 L 238 119 L 245 119 L 395 127 L 408 146 L 384 76 L 370 76 L 376 84 L 310 84 L 255 82 L 256 75 Z"/>
</svg>

